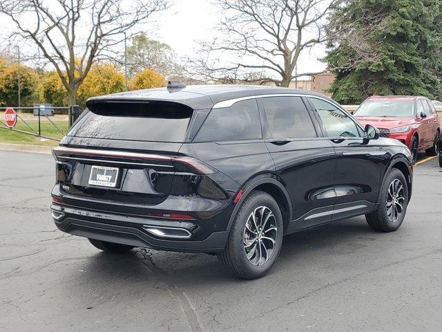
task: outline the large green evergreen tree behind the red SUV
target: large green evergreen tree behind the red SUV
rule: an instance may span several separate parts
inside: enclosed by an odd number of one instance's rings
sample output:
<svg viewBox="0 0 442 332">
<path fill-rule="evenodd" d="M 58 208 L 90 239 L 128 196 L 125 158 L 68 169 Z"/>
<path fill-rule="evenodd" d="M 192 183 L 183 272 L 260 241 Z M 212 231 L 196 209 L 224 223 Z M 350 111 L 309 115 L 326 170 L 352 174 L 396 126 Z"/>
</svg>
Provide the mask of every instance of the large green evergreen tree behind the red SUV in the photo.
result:
<svg viewBox="0 0 442 332">
<path fill-rule="evenodd" d="M 370 95 L 439 96 L 440 0 L 339 0 L 325 62 L 343 104 Z"/>
</svg>

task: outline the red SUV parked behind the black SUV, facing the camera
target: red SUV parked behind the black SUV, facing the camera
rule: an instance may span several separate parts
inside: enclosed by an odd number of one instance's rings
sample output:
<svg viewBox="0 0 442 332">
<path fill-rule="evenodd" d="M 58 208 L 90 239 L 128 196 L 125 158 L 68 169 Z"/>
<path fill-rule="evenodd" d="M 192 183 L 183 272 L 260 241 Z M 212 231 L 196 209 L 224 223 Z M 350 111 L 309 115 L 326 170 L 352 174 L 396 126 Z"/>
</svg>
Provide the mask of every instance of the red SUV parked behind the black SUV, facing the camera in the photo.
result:
<svg viewBox="0 0 442 332">
<path fill-rule="evenodd" d="M 441 136 L 441 124 L 434 105 L 425 97 L 373 96 L 367 98 L 354 113 L 365 126 L 372 124 L 382 137 L 395 138 L 412 151 L 413 161 L 425 151 L 434 156 Z"/>
</svg>

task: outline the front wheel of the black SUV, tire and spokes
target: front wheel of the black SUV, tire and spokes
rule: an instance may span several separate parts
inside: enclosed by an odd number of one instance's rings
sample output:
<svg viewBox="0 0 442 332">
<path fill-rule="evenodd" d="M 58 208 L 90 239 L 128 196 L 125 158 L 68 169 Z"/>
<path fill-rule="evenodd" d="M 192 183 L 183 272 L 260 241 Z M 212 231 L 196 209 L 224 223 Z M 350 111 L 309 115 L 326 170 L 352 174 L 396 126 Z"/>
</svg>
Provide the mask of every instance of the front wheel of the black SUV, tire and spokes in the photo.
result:
<svg viewBox="0 0 442 332">
<path fill-rule="evenodd" d="M 403 208 L 401 209 L 401 213 L 398 214 L 396 221 L 390 219 L 389 208 L 387 208 L 387 199 L 390 200 L 389 188 L 390 185 L 394 185 L 394 181 L 400 181 L 403 185 Z M 402 201 L 402 200 L 401 200 Z M 372 213 L 365 214 L 365 219 L 367 219 L 368 225 L 378 232 L 394 232 L 397 230 L 403 222 L 405 218 L 405 214 L 407 212 L 408 205 L 408 186 L 407 180 L 403 173 L 396 168 L 390 169 L 390 171 L 385 174 L 382 186 L 381 186 L 381 194 L 379 195 L 379 206 L 378 209 Z M 394 204 L 390 205 L 395 207 Z M 390 210 L 391 213 L 394 211 Z"/>
</svg>

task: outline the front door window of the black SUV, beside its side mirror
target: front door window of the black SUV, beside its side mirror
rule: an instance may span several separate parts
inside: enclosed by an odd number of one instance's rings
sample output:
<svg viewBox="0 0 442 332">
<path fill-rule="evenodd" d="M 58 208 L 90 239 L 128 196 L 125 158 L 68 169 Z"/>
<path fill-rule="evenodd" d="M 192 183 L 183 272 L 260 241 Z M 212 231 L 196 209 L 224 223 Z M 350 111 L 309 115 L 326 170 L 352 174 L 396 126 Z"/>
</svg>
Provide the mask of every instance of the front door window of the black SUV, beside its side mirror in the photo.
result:
<svg viewBox="0 0 442 332">
<path fill-rule="evenodd" d="M 328 137 L 361 137 L 356 123 L 347 114 L 325 100 L 310 98 Z"/>
</svg>

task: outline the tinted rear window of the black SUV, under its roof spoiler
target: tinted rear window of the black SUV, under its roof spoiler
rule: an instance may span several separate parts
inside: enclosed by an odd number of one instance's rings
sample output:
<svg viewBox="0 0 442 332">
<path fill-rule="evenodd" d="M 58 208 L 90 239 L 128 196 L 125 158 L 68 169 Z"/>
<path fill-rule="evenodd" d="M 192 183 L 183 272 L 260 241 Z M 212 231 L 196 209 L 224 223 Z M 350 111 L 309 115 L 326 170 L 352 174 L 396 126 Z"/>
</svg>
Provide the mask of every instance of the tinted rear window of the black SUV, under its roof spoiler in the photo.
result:
<svg viewBox="0 0 442 332">
<path fill-rule="evenodd" d="M 68 136 L 183 142 L 192 109 L 166 102 L 112 102 L 85 111 Z"/>
</svg>

